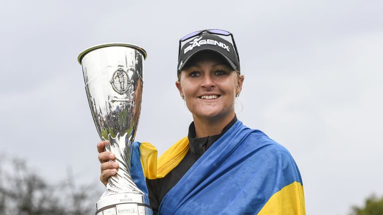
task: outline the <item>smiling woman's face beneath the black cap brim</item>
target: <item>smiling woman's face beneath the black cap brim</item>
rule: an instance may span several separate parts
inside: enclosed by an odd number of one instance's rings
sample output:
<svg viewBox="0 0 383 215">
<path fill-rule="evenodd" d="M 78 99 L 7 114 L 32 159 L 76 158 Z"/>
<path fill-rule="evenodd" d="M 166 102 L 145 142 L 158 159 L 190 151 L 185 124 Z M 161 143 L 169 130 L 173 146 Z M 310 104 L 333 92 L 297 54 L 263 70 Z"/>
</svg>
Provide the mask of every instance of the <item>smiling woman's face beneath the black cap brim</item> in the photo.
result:
<svg viewBox="0 0 383 215">
<path fill-rule="evenodd" d="M 219 118 L 234 113 L 243 79 L 220 56 L 207 52 L 191 59 L 176 86 L 193 116 Z"/>
</svg>

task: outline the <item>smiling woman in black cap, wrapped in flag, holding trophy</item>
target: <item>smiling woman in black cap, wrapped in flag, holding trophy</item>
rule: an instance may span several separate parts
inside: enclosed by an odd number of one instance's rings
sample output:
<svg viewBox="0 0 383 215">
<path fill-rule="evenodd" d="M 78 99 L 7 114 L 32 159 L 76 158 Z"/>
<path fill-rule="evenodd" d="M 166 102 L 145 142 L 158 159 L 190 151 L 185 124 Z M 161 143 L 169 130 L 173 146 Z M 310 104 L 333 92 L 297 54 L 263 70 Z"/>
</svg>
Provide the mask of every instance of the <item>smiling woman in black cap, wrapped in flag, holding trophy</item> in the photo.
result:
<svg viewBox="0 0 383 215">
<path fill-rule="evenodd" d="M 193 116 L 188 136 L 158 160 L 150 143 L 139 143 L 154 214 L 305 214 L 302 180 L 290 153 L 236 118 L 234 101 L 244 77 L 232 34 L 214 29 L 183 37 L 177 75 Z M 107 162 L 115 157 L 104 145 L 97 148 L 106 185 L 118 164 Z"/>
</svg>

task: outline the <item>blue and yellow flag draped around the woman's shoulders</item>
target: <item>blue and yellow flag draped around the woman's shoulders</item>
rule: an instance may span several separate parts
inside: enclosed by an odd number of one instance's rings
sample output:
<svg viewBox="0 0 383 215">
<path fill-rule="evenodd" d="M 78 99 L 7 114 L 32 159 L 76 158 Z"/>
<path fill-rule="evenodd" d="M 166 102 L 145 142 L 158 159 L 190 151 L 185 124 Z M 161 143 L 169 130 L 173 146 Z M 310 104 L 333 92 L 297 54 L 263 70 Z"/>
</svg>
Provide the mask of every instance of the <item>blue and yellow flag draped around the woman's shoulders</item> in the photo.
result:
<svg viewBox="0 0 383 215">
<path fill-rule="evenodd" d="M 185 157 L 185 137 L 159 159 L 140 145 L 146 178 L 165 177 Z M 286 148 L 237 121 L 161 202 L 159 215 L 305 215 L 302 179 Z"/>
</svg>

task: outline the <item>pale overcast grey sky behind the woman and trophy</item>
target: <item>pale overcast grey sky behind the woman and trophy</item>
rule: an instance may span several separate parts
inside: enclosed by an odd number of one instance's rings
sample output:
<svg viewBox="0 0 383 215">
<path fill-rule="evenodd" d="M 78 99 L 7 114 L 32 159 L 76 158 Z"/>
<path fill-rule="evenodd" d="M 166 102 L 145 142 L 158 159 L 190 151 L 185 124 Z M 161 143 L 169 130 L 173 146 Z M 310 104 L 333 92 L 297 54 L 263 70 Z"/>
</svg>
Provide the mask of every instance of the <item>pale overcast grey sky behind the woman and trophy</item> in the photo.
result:
<svg viewBox="0 0 383 215">
<path fill-rule="evenodd" d="M 161 154 L 192 121 L 175 87 L 178 40 L 221 28 L 234 33 L 245 75 L 238 118 L 290 150 L 308 215 L 345 215 L 383 195 L 382 11 L 381 0 L 1 0 L 0 152 L 52 182 L 68 168 L 97 181 L 76 58 L 128 42 L 148 52 L 136 140 Z"/>
</svg>

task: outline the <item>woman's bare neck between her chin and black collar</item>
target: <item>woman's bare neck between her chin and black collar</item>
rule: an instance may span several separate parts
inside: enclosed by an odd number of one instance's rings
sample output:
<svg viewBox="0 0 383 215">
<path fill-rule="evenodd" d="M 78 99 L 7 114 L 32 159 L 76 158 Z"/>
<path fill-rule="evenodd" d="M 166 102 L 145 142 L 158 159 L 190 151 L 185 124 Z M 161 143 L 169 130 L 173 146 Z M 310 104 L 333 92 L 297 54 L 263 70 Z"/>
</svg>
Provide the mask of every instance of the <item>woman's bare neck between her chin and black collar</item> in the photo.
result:
<svg viewBox="0 0 383 215">
<path fill-rule="evenodd" d="M 195 135 L 197 138 L 220 134 L 222 129 L 234 118 L 234 111 L 225 116 L 199 117 L 193 115 Z"/>
</svg>

